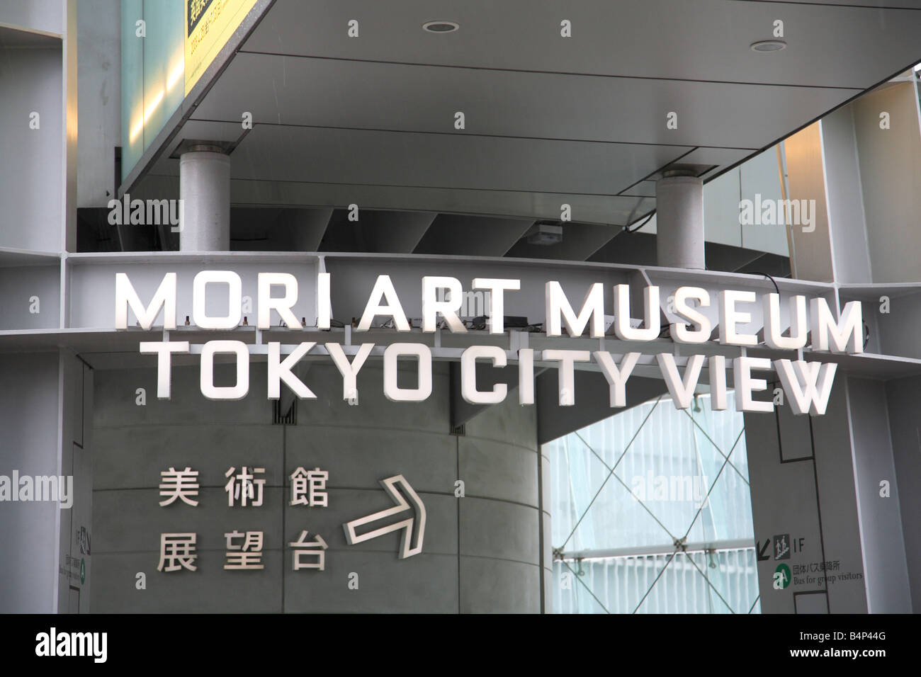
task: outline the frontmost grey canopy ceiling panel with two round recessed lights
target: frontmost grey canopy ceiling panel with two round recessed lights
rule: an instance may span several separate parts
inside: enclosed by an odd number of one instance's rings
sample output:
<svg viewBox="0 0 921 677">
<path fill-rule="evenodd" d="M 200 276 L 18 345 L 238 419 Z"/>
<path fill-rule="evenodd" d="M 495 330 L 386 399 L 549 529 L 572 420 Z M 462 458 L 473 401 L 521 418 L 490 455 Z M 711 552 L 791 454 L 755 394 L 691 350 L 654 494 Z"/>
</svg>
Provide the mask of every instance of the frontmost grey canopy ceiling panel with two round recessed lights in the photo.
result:
<svg viewBox="0 0 921 677">
<path fill-rule="evenodd" d="M 921 61 L 919 5 L 751 0 L 277 0 L 243 45 L 391 63 L 869 88 Z M 863 6 L 857 6 L 863 5 Z M 868 6 L 870 5 L 870 6 Z M 359 36 L 346 35 L 359 22 Z M 456 21 L 454 33 L 422 29 Z M 572 37 L 560 36 L 560 22 Z M 753 53 L 784 21 L 788 47 Z M 846 64 L 846 66 L 845 66 Z M 881 75 L 880 75 L 881 74 Z"/>
</svg>

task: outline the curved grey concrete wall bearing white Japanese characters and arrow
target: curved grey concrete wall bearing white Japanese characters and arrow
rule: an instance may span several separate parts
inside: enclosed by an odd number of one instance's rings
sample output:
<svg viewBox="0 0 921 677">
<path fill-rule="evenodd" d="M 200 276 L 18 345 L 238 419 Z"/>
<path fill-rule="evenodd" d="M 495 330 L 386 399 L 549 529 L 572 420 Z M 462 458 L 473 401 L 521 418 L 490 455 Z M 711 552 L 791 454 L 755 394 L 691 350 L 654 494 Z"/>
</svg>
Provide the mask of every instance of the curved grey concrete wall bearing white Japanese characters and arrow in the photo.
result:
<svg viewBox="0 0 921 677">
<path fill-rule="evenodd" d="M 99 370 L 95 379 L 93 612 L 539 612 L 542 604 L 537 426 L 514 398 L 449 435 L 449 369 L 435 364 L 425 403 L 391 403 L 380 364 L 359 374 L 360 403 L 341 399 L 328 362 L 305 383 L 318 396 L 297 405 L 297 425 L 273 426 L 265 367 L 251 366 L 250 394 L 211 402 L 197 366 L 174 368 L 173 398 L 156 398 L 153 368 Z M 234 378 L 226 365 L 216 379 Z M 401 379 L 410 374 L 401 374 Z M 146 388 L 146 405 L 135 390 Z M 265 468 L 261 508 L 228 508 L 225 472 Z M 199 470 L 200 504 L 158 506 L 160 472 Z M 330 473 L 329 507 L 292 507 L 290 474 Z M 344 522 L 392 506 L 379 480 L 402 473 L 427 512 L 422 554 L 397 556 L 391 533 L 353 546 Z M 455 481 L 465 496 L 455 497 Z M 328 543 L 325 570 L 292 570 L 287 543 L 301 530 Z M 263 571 L 227 571 L 224 534 L 264 531 Z M 198 534 L 198 570 L 161 573 L 161 532 Z M 549 545 L 549 539 L 544 539 Z M 136 589 L 136 574 L 146 589 Z M 349 588 L 351 574 L 358 589 Z"/>
</svg>

